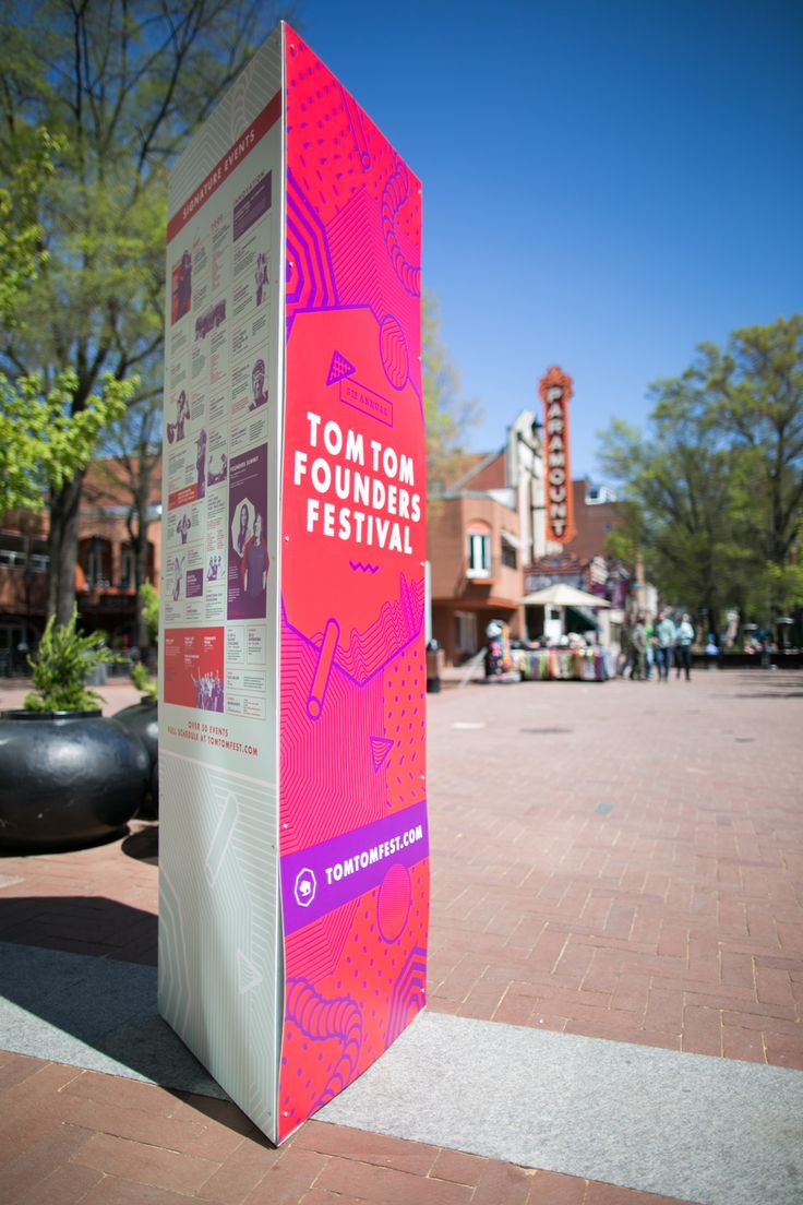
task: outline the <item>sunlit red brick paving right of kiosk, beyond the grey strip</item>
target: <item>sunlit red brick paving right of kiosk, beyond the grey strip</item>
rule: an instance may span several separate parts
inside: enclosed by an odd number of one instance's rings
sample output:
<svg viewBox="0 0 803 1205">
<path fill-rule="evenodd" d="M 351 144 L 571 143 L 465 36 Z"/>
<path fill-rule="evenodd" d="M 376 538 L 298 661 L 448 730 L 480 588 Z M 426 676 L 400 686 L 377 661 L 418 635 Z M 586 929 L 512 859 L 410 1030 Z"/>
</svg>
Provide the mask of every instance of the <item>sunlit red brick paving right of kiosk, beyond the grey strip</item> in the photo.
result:
<svg viewBox="0 0 803 1205">
<path fill-rule="evenodd" d="M 803 1069 L 802 718 L 772 671 L 447 694 L 430 1006 Z"/>
</svg>

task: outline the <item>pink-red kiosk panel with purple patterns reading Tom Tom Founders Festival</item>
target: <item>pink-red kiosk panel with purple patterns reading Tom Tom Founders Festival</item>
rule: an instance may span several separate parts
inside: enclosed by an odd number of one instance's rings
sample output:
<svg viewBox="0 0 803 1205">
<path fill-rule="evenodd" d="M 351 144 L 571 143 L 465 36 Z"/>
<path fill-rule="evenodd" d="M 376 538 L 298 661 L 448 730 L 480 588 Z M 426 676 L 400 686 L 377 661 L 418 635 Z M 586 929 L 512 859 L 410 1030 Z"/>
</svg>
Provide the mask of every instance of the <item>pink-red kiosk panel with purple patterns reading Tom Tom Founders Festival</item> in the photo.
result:
<svg viewBox="0 0 803 1205">
<path fill-rule="evenodd" d="M 284 54 L 281 1139 L 424 1006 L 429 921 L 421 189 Z"/>
</svg>

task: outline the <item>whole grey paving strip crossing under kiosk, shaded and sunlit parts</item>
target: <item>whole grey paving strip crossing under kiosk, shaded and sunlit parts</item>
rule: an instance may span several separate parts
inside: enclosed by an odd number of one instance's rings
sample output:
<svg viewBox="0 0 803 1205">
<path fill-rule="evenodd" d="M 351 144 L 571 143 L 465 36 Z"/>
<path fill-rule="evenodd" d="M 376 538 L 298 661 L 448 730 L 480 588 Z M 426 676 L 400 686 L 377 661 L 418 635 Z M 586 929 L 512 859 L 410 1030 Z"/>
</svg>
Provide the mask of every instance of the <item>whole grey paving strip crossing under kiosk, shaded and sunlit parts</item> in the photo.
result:
<svg viewBox="0 0 803 1205">
<path fill-rule="evenodd" d="M 0 1046 L 225 1093 L 157 970 L 0 942 Z M 704 1205 L 803 1201 L 803 1071 L 426 1012 L 318 1121 Z"/>
</svg>

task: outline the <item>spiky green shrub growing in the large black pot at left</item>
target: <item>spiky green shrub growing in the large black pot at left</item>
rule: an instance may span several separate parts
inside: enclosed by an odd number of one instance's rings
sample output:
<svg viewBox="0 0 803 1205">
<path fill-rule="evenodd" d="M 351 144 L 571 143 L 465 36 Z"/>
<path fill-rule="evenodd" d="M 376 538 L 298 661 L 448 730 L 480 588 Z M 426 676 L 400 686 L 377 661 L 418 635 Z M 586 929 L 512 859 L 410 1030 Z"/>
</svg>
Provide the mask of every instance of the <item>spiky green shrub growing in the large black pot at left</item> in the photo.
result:
<svg viewBox="0 0 803 1205">
<path fill-rule="evenodd" d="M 102 631 L 83 635 L 77 622 L 77 607 L 69 623 L 57 623 L 55 616 L 48 619 L 36 656 L 28 658 L 34 692 L 25 695 L 26 711 L 91 711 L 102 703 L 87 678 L 99 665 L 124 658 L 106 647 Z"/>
</svg>

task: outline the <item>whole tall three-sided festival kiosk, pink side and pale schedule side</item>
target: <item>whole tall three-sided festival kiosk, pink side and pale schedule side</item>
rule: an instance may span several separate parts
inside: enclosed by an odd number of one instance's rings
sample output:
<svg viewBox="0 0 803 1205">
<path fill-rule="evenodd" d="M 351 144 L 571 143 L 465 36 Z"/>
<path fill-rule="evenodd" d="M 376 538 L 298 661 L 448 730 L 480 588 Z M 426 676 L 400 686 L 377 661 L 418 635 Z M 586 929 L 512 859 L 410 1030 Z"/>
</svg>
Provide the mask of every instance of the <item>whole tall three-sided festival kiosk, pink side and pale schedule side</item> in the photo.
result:
<svg viewBox="0 0 803 1205">
<path fill-rule="evenodd" d="M 159 1009 L 272 1141 L 425 1004 L 420 223 L 285 24 L 170 177 Z"/>
</svg>

